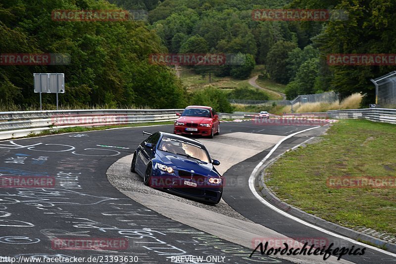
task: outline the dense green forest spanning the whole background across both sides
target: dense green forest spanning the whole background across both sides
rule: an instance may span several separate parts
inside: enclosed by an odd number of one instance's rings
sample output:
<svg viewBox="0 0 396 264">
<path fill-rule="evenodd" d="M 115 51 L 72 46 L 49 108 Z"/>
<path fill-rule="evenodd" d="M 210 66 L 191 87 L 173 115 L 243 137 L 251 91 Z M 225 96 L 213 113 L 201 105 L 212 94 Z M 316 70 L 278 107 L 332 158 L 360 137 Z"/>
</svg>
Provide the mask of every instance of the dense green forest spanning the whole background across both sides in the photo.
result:
<svg viewBox="0 0 396 264">
<path fill-rule="evenodd" d="M 54 9 L 144 9 L 147 20 L 60 22 Z M 344 20 L 258 21 L 253 9 L 342 9 Z M 30 106 L 33 72 L 64 72 L 61 103 L 73 106 L 183 107 L 190 98 L 172 70 L 151 53 L 235 53 L 242 65 L 194 66 L 197 72 L 264 78 L 298 94 L 360 92 L 373 102 L 375 78 L 393 66 L 329 66 L 331 53 L 396 53 L 394 0 L 0 0 L 1 53 L 69 53 L 69 65 L 0 66 L 2 105 Z M 210 92 L 211 94 L 213 91 Z M 208 96 L 208 95 L 207 95 Z M 53 104 L 50 95 L 44 98 Z"/>
</svg>

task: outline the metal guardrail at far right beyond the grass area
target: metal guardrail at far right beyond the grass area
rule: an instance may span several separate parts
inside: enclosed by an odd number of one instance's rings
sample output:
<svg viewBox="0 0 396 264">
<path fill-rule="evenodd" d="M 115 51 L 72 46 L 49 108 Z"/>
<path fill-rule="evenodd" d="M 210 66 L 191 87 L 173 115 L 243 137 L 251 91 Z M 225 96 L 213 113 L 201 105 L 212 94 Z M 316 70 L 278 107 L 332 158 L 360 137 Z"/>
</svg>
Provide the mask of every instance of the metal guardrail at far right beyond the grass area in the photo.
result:
<svg viewBox="0 0 396 264">
<path fill-rule="evenodd" d="M 365 108 L 365 109 L 347 109 L 347 110 L 330 110 L 327 114 L 331 118 L 361 118 L 375 122 L 384 122 L 396 124 L 396 109 L 389 108 Z"/>
</svg>

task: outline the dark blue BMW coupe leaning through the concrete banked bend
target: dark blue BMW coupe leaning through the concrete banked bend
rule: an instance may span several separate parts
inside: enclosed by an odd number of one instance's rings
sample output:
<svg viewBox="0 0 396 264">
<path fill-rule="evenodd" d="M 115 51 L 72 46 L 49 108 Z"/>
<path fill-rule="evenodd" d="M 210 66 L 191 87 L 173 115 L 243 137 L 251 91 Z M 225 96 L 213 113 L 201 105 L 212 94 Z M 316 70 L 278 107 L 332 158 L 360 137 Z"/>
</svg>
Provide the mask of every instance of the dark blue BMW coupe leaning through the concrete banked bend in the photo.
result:
<svg viewBox="0 0 396 264">
<path fill-rule="evenodd" d="M 220 162 L 211 159 L 197 140 L 156 132 L 136 149 L 131 171 L 143 177 L 152 188 L 218 204 L 223 194 L 223 177 L 214 168 Z"/>
</svg>

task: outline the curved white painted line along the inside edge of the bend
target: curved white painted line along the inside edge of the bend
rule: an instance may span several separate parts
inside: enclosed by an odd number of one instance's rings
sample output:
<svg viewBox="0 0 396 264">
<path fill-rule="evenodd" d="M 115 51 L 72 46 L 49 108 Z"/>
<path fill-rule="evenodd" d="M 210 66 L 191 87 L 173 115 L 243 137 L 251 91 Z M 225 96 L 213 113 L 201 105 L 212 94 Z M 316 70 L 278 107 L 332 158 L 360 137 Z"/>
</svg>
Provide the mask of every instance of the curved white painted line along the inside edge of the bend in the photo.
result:
<svg viewBox="0 0 396 264">
<path fill-rule="evenodd" d="M 293 134 L 291 134 L 291 135 L 285 137 L 284 139 L 280 140 L 280 141 L 272 148 L 272 150 L 267 154 L 267 156 L 265 156 L 265 157 L 260 161 L 260 163 L 258 163 L 257 166 L 254 167 L 253 171 L 251 172 L 250 177 L 249 177 L 249 188 L 250 188 L 250 191 L 253 193 L 253 195 L 254 195 L 262 204 L 264 204 L 265 206 L 269 207 L 270 209 L 272 209 L 272 210 L 274 210 L 274 211 L 276 211 L 276 212 L 282 214 L 283 216 L 286 216 L 286 217 L 288 217 L 288 218 L 290 218 L 290 219 L 292 219 L 292 220 L 294 220 L 294 221 L 296 221 L 296 222 L 298 222 L 298 223 L 301 223 L 301 224 L 303 224 L 303 225 L 306 225 L 306 226 L 308 226 L 308 227 L 311 227 L 311 228 L 313 228 L 313 229 L 316 229 L 316 230 L 318 230 L 318 231 L 320 231 L 320 232 L 323 232 L 323 233 L 325 233 L 325 234 L 328 234 L 328 235 L 331 235 L 331 236 L 334 236 L 334 237 L 337 237 L 337 238 L 341 238 L 341 239 L 347 240 L 348 242 L 351 242 L 351 243 L 354 243 L 354 244 L 357 244 L 357 245 L 360 245 L 360 246 L 364 246 L 364 247 L 366 247 L 366 248 L 369 248 L 369 249 L 372 249 L 372 250 L 381 252 L 381 253 L 383 253 L 383 254 L 386 254 L 386 255 L 389 255 L 389 256 L 392 256 L 392 257 L 396 257 L 396 254 L 394 254 L 394 253 L 391 253 L 391 252 L 388 252 L 388 251 L 385 251 L 385 250 L 382 250 L 382 249 L 379 249 L 379 248 L 376 248 L 376 247 L 373 247 L 373 246 L 370 246 L 370 245 L 366 245 L 366 244 L 364 244 L 364 243 L 355 241 L 355 240 L 353 240 L 353 239 L 351 239 L 351 238 L 348 238 L 348 237 L 345 237 L 345 236 L 342 236 L 342 235 L 333 233 L 333 232 L 331 232 L 331 231 L 328 231 L 328 230 L 326 230 L 326 229 L 323 229 L 323 228 L 321 228 L 321 227 L 318 227 L 318 226 L 316 226 L 316 225 L 313 225 L 313 224 L 311 224 L 311 223 L 308 223 L 308 222 L 306 222 L 306 221 L 304 221 L 304 220 L 301 220 L 301 219 L 297 218 L 296 216 L 293 216 L 293 215 L 291 215 L 291 214 L 289 214 L 289 213 L 287 213 L 287 212 L 285 212 L 285 211 L 282 211 L 282 210 L 276 208 L 275 206 L 271 205 L 269 202 L 265 201 L 264 198 L 262 198 L 262 197 L 256 192 L 256 190 L 254 189 L 254 180 L 255 180 L 254 175 L 256 174 L 257 170 L 264 164 L 264 162 L 265 162 L 269 157 L 271 157 L 271 155 L 272 155 L 272 154 L 274 153 L 274 151 L 281 145 L 282 142 L 284 142 L 285 140 L 287 140 L 287 139 L 289 139 L 289 138 L 291 138 L 291 137 L 294 137 L 295 135 L 297 135 L 297 134 L 299 134 L 299 133 L 303 133 L 303 132 L 309 131 L 309 130 L 311 130 L 311 129 L 319 128 L 319 127 L 320 127 L 320 126 L 308 128 L 308 129 L 305 129 L 305 130 L 302 130 L 302 131 L 293 133 Z"/>
</svg>

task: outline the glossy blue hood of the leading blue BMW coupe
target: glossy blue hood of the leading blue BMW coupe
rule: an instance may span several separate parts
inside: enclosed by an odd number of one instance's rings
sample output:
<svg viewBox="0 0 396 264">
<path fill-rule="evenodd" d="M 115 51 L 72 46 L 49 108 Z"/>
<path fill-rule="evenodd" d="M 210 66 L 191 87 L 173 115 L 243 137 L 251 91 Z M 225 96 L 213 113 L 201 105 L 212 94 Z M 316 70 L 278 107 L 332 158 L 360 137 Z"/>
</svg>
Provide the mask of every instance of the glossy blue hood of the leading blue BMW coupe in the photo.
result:
<svg viewBox="0 0 396 264">
<path fill-rule="evenodd" d="M 169 165 L 169 163 L 172 163 L 172 165 L 175 166 L 177 170 L 185 170 L 185 171 L 194 170 L 194 173 L 203 176 L 217 175 L 217 173 L 213 171 L 212 163 L 201 164 L 199 163 L 198 160 L 194 160 L 192 158 L 187 158 L 176 154 L 170 154 L 161 151 L 159 152 L 161 153 L 160 158 L 163 160 L 165 165 Z"/>
</svg>

